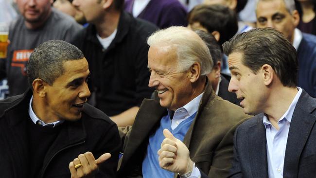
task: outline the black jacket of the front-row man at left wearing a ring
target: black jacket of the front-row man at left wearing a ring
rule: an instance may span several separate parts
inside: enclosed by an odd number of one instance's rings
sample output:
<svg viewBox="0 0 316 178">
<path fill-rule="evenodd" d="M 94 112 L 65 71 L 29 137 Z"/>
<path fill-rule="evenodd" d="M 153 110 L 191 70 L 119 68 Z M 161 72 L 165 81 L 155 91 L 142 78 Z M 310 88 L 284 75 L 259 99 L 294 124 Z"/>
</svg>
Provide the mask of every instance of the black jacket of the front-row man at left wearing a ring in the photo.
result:
<svg viewBox="0 0 316 178">
<path fill-rule="evenodd" d="M 32 91 L 0 102 L 1 178 L 28 177 L 27 120 Z M 85 104 L 82 118 L 65 121 L 57 138 L 47 150 L 38 170 L 39 178 L 70 178 L 69 163 L 90 151 L 97 159 L 109 152 L 112 157 L 100 167 L 99 178 L 114 178 L 121 141 L 117 126 L 100 110 Z M 45 140 L 43 141 L 45 142 Z M 38 145 L 40 146 L 40 145 Z M 36 157 L 36 155 L 34 155 Z"/>
</svg>

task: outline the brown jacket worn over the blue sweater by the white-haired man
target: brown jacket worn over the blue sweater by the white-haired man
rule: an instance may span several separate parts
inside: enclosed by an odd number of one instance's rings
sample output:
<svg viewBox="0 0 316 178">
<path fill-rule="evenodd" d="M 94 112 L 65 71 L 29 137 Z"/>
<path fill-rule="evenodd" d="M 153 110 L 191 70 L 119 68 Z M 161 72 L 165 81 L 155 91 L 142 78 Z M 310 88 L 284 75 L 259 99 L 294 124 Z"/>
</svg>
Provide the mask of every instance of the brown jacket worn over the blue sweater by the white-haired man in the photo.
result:
<svg viewBox="0 0 316 178">
<path fill-rule="evenodd" d="M 166 114 L 166 108 L 161 107 L 159 101 L 143 101 L 133 128 L 125 138 L 118 177 L 142 177 L 141 165 L 147 152 L 149 136 L 155 133 L 160 119 Z M 216 96 L 211 85 L 206 86 L 194 121 L 183 140 L 202 178 L 227 177 L 233 157 L 233 134 L 237 126 L 249 117 L 241 107 Z"/>
</svg>

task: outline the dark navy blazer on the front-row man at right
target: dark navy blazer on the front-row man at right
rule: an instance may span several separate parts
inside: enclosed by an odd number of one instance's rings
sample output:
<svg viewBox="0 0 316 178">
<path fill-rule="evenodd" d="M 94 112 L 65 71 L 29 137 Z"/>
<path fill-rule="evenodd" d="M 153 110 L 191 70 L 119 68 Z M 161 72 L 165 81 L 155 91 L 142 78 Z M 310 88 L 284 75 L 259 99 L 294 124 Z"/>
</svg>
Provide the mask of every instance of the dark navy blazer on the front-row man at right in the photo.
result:
<svg viewBox="0 0 316 178">
<path fill-rule="evenodd" d="M 288 134 L 283 178 L 316 176 L 316 99 L 304 90 L 295 107 Z M 267 178 L 263 113 L 240 125 L 234 136 L 230 178 Z"/>
</svg>

